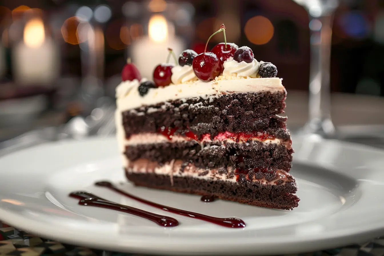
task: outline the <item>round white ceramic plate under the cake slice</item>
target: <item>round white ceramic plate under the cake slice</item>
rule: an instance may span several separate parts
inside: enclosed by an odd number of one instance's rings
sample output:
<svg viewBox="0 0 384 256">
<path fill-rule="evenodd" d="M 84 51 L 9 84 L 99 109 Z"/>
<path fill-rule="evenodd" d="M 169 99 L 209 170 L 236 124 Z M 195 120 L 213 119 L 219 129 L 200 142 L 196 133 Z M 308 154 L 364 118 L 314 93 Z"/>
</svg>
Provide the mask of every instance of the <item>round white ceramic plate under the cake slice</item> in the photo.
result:
<svg viewBox="0 0 384 256">
<path fill-rule="evenodd" d="M 295 138 L 294 138 L 295 139 Z M 63 141 L 0 158 L 0 219 L 36 235 L 92 248 L 166 254 L 282 254 L 333 248 L 384 233 L 384 152 L 361 145 L 294 140 L 298 208 L 271 210 L 198 196 L 134 187 L 124 179 L 114 138 Z M 164 205 L 247 226 L 223 228 L 169 214 L 123 198 L 98 180 L 125 182 L 125 190 Z M 87 190 L 100 197 L 168 215 L 164 228 L 129 214 L 78 205 L 68 197 Z"/>
</svg>

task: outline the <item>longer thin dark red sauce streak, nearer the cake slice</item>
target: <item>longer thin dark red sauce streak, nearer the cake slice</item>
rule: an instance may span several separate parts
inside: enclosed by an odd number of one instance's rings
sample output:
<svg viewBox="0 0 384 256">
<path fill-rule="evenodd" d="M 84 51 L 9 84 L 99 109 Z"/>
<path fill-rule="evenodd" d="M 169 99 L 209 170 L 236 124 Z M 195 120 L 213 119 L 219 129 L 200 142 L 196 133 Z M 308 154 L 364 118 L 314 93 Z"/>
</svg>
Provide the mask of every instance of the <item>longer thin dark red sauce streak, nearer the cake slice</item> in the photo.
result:
<svg viewBox="0 0 384 256">
<path fill-rule="evenodd" d="M 136 201 L 139 201 L 141 203 L 145 203 L 146 205 L 150 205 L 150 206 L 159 208 L 159 209 L 164 210 L 164 211 L 169 211 L 170 213 L 175 213 L 175 214 L 187 216 L 187 217 L 190 217 L 190 218 L 195 218 L 195 219 L 199 219 L 199 220 L 208 221 L 210 223 L 214 223 L 216 225 L 224 226 L 224 227 L 227 227 L 227 228 L 244 228 L 245 227 L 244 221 L 240 220 L 239 218 L 235 218 L 235 217 L 232 217 L 232 218 L 217 218 L 217 217 L 212 217 L 212 216 L 208 216 L 208 215 L 204 215 L 204 214 L 200 214 L 200 213 L 194 213 L 192 211 L 185 211 L 185 210 L 180 210 L 180 209 L 177 209 L 177 208 L 168 207 L 168 206 L 165 206 L 165 205 L 160 205 L 158 203 L 147 201 L 145 199 L 142 199 L 142 198 L 136 197 L 134 195 L 131 195 L 131 194 L 129 194 L 129 193 L 119 189 L 118 187 L 113 185 L 111 182 L 107 182 L 107 181 L 96 182 L 95 185 L 98 186 L 98 187 L 109 188 L 109 189 L 113 190 L 114 192 L 117 192 L 117 193 L 119 193 L 121 195 L 129 197 L 129 198 L 134 199 Z"/>
</svg>

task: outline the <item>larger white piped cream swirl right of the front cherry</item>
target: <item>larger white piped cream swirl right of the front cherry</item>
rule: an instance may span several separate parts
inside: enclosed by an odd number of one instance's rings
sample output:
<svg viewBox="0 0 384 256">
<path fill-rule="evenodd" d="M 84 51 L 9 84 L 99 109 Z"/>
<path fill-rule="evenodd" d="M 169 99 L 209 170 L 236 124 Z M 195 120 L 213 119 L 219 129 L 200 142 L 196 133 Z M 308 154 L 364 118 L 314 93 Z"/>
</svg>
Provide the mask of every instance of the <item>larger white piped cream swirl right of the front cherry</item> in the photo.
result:
<svg viewBox="0 0 384 256">
<path fill-rule="evenodd" d="M 224 61 L 224 71 L 223 76 L 251 76 L 252 74 L 257 73 L 259 70 L 259 63 L 254 58 L 251 63 L 246 63 L 245 61 L 237 62 L 233 60 L 233 57 L 230 57 Z"/>
</svg>

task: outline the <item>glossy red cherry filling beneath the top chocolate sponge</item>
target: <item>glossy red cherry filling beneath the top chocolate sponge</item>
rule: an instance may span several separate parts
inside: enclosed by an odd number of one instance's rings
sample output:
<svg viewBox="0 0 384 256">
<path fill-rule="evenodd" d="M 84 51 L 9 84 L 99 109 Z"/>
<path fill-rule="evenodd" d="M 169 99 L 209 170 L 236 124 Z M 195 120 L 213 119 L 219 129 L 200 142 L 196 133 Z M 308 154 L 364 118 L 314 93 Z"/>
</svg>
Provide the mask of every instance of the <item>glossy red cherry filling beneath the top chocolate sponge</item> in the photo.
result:
<svg viewBox="0 0 384 256">
<path fill-rule="evenodd" d="M 172 140 L 173 135 L 175 134 L 175 132 L 178 129 L 179 128 L 177 128 L 177 127 L 175 127 L 175 128 L 161 127 L 158 130 L 158 133 L 164 135 L 165 137 L 167 137 L 167 139 Z M 185 137 L 187 140 L 196 140 L 199 142 L 211 141 L 211 135 L 209 133 L 203 134 L 199 137 L 197 134 L 194 134 L 192 131 L 188 131 L 184 135 L 181 135 L 181 136 Z M 243 141 L 247 141 L 250 139 L 257 139 L 260 141 L 273 140 L 273 139 L 275 139 L 275 136 L 270 135 L 266 132 L 259 132 L 259 131 L 250 132 L 250 133 L 246 133 L 246 132 L 219 132 L 212 140 L 223 141 L 223 140 L 228 140 L 228 139 L 233 140 L 233 141 L 238 143 L 238 142 L 243 142 Z"/>
</svg>

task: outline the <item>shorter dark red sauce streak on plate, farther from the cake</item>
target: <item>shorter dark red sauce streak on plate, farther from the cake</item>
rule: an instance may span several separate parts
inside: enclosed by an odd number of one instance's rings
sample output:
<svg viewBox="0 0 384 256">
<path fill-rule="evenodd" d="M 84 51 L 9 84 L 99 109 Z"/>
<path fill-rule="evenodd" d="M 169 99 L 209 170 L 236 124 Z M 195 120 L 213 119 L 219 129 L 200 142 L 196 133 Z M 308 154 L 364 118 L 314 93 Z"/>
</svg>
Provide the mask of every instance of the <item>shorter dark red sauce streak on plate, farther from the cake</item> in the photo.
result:
<svg viewBox="0 0 384 256">
<path fill-rule="evenodd" d="M 79 199 L 79 205 L 95 206 L 99 208 L 107 208 L 111 210 L 122 211 L 124 213 L 129 213 L 147 220 L 151 220 L 160 226 L 174 227 L 179 225 L 179 222 L 176 219 L 171 218 L 169 216 L 159 215 L 159 214 L 151 213 L 149 211 L 144 211 L 134 207 L 130 207 L 127 205 L 114 203 L 114 202 L 105 200 L 103 198 L 100 198 L 96 195 L 93 195 L 89 192 L 81 192 L 81 191 L 73 192 L 73 193 L 70 193 L 70 197 Z"/>
</svg>

